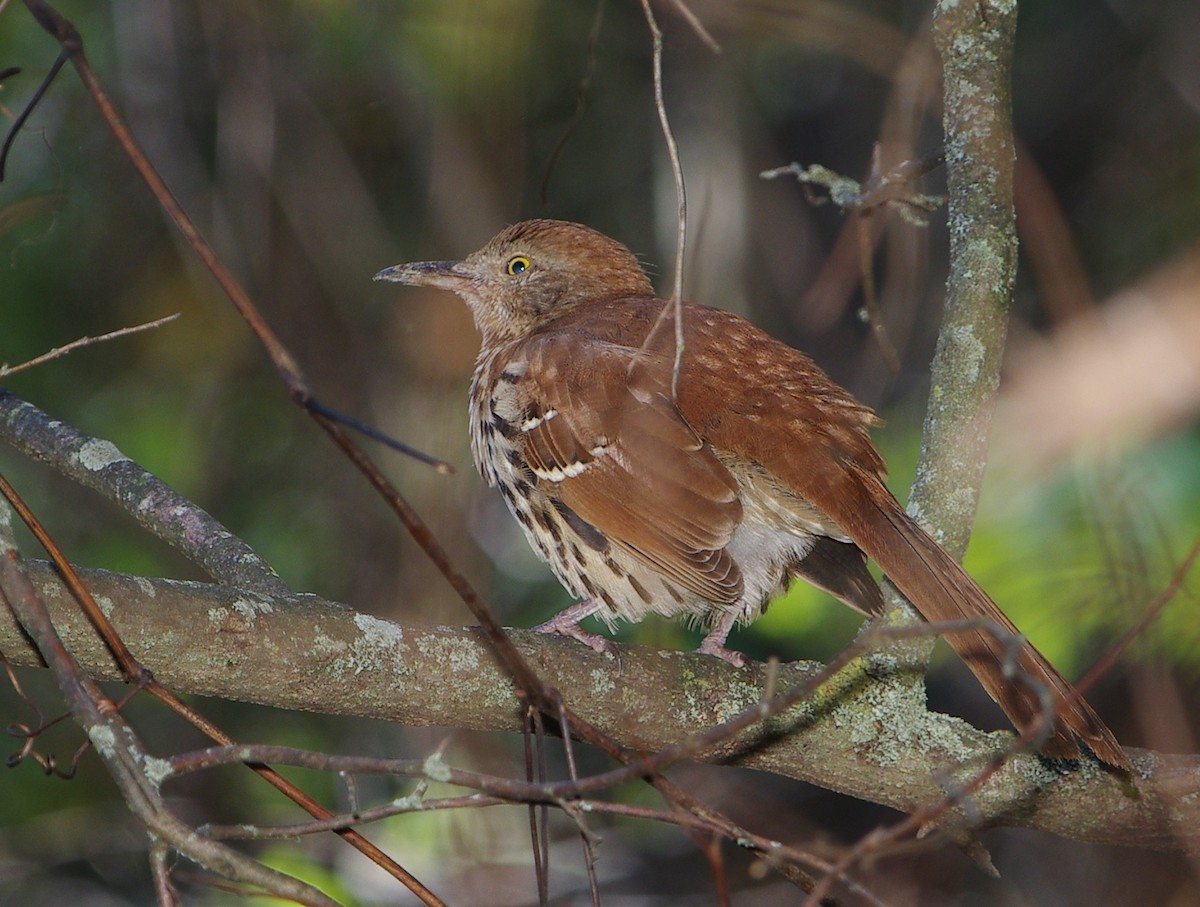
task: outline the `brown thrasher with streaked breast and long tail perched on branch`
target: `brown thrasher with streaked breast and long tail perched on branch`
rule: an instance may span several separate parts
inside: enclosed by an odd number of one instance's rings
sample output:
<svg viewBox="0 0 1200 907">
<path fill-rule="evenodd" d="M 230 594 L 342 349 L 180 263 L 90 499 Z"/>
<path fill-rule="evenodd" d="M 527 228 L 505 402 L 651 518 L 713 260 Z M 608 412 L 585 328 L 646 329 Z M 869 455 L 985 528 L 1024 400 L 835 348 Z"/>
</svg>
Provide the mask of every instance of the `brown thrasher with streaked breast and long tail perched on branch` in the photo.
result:
<svg viewBox="0 0 1200 907">
<path fill-rule="evenodd" d="M 742 665 L 730 630 L 796 577 L 881 613 L 869 555 L 928 620 L 984 618 L 1010 635 L 947 639 L 1016 727 L 1057 704 L 1048 755 L 1078 758 L 1078 735 L 1128 768 L 1091 707 L 887 489 L 868 432 L 878 419 L 802 353 L 684 305 L 676 374 L 671 312 L 652 330 L 670 304 L 625 246 L 577 223 L 527 221 L 462 262 L 376 278 L 470 306 L 475 465 L 581 599 L 539 629 L 604 649 L 582 618 L 686 615 L 713 626 L 701 651 Z"/>
</svg>

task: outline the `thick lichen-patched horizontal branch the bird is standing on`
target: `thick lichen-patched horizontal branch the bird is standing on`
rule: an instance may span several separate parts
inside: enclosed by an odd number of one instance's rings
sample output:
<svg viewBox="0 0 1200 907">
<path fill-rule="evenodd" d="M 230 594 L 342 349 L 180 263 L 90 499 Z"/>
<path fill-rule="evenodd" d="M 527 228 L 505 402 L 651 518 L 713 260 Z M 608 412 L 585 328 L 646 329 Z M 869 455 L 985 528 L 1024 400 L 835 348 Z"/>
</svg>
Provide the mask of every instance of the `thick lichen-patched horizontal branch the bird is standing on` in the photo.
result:
<svg viewBox="0 0 1200 907">
<path fill-rule="evenodd" d="M 84 668 L 116 675 L 56 575 L 29 572 Z M 83 573 L 130 648 L 179 692 L 415 726 L 520 731 L 518 698 L 481 631 L 408 627 L 316 596 L 270 599 L 228 587 Z M 619 662 L 568 639 L 512 631 L 521 653 L 586 720 L 642 751 L 661 750 L 760 701 L 766 671 L 695 654 L 620 647 Z M 36 653 L 6 612 L 0 650 Z M 776 689 L 818 666 L 781 668 Z M 815 702 L 706 753 L 904 811 L 940 800 L 1007 734 L 924 710 L 857 660 Z M 1016 756 L 971 801 L 973 825 L 1021 825 L 1093 842 L 1200 848 L 1200 757 L 1129 750 L 1132 799 L 1093 765 L 1058 771 Z M 926 767 L 914 770 L 913 767 Z"/>
</svg>

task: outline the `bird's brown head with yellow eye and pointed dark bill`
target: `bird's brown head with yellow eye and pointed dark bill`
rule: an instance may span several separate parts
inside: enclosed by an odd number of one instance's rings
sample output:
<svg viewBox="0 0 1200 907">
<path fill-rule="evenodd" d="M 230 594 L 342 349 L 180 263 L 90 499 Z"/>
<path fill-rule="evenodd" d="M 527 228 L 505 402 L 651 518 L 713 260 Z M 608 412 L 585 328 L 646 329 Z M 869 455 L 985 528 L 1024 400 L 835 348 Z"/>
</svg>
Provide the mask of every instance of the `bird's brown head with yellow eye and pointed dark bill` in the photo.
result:
<svg viewBox="0 0 1200 907">
<path fill-rule="evenodd" d="M 547 220 L 515 223 L 461 262 L 401 264 L 374 280 L 458 294 L 485 346 L 527 337 L 587 302 L 654 294 L 623 245 L 590 227 Z"/>
</svg>

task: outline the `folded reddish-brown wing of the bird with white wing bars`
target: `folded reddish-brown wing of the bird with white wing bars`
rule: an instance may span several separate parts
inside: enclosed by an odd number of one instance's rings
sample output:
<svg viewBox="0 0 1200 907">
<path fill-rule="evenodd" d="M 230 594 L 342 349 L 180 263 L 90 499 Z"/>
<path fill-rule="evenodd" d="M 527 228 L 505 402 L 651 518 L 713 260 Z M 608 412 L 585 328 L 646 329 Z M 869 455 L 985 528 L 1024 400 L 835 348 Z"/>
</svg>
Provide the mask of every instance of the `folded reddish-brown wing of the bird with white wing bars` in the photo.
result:
<svg viewBox="0 0 1200 907">
<path fill-rule="evenodd" d="M 542 491 L 696 595 L 736 603 L 737 482 L 679 415 L 661 364 L 572 334 L 522 346 L 521 438 Z"/>
</svg>

